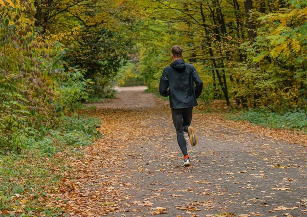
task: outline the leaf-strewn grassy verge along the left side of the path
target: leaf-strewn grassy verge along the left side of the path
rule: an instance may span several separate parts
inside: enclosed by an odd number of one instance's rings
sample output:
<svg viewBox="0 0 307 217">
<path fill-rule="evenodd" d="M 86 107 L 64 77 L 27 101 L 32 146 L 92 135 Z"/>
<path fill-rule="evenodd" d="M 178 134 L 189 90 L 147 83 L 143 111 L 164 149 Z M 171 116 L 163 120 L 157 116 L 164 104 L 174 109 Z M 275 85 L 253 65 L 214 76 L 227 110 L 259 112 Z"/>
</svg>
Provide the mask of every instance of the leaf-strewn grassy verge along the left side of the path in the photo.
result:
<svg viewBox="0 0 307 217">
<path fill-rule="evenodd" d="M 94 118 L 65 117 L 59 128 L 43 138 L 17 138 L 25 149 L 0 155 L 0 215 L 8 210 L 14 212 L 7 214 L 11 216 L 64 216 L 46 201 L 58 192 L 62 179 L 69 177 L 69 158 L 81 157 L 80 147 L 100 136 L 98 125 Z"/>
</svg>

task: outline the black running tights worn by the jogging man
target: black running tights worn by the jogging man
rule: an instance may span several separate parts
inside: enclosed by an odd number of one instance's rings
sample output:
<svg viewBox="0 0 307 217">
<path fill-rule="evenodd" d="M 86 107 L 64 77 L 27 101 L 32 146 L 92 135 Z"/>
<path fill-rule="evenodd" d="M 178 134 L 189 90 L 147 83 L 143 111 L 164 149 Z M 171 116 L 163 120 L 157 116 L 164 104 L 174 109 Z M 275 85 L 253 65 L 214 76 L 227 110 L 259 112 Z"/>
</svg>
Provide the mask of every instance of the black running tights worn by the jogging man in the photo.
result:
<svg viewBox="0 0 307 217">
<path fill-rule="evenodd" d="M 187 142 L 183 132 L 188 132 L 188 127 L 192 121 L 193 107 L 190 108 L 172 108 L 171 115 L 177 132 L 177 141 L 183 156 L 188 155 Z"/>
</svg>

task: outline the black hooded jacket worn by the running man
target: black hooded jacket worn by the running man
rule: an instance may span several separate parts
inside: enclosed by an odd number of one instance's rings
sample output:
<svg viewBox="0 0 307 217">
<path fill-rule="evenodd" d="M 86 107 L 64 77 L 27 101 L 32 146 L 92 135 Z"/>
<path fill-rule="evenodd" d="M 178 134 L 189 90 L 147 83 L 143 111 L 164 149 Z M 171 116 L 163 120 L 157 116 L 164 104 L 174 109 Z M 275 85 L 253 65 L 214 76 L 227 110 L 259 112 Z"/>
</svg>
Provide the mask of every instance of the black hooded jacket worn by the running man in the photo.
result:
<svg viewBox="0 0 307 217">
<path fill-rule="evenodd" d="M 173 61 L 163 70 L 159 91 L 162 96 L 169 96 L 171 108 L 188 108 L 198 105 L 196 99 L 199 98 L 202 90 L 203 82 L 196 69 L 192 64 L 185 63 L 183 59 Z"/>
</svg>

